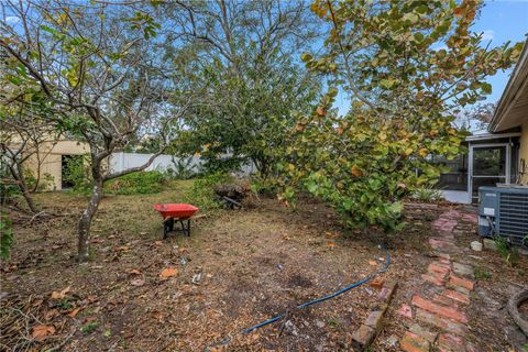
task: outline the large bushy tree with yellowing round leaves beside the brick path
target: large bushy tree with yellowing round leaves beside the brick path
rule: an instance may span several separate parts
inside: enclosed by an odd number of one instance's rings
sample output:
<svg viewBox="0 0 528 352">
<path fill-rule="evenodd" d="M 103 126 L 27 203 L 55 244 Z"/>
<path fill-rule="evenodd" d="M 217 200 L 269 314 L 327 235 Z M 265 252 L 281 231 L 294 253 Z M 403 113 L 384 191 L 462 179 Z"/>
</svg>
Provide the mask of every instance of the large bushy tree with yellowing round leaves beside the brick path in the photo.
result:
<svg viewBox="0 0 528 352">
<path fill-rule="evenodd" d="M 475 1 L 315 1 L 311 9 L 332 30 L 328 54 L 302 59 L 330 74 L 352 106 L 338 116 L 338 89 L 330 88 L 311 114 L 298 117 L 279 164 L 285 194 L 307 189 L 348 227 L 400 228 L 399 200 L 438 179 L 431 155 L 459 153 L 457 110 L 490 94 L 486 77 L 508 68 L 521 45 L 481 45 L 470 31 Z"/>
</svg>

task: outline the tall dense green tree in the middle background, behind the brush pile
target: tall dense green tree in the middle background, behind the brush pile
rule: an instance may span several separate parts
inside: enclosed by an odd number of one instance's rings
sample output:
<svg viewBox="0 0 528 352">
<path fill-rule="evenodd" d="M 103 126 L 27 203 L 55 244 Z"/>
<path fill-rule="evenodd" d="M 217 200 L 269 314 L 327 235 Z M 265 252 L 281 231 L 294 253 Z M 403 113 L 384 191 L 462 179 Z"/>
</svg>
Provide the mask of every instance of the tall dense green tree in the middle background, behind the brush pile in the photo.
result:
<svg viewBox="0 0 528 352">
<path fill-rule="evenodd" d="M 185 114 L 173 151 L 199 154 L 207 173 L 251 163 L 267 177 L 277 162 L 272 151 L 295 124 L 292 112 L 310 109 L 320 92 L 294 55 L 318 42 L 315 15 L 302 1 L 232 1 L 223 8 L 204 1 L 189 13 L 196 28 L 183 40 L 210 59 L 188 68 L 200 103 Z M 205 36 L 212 45 L 197 45 Z"/>
</svg>

